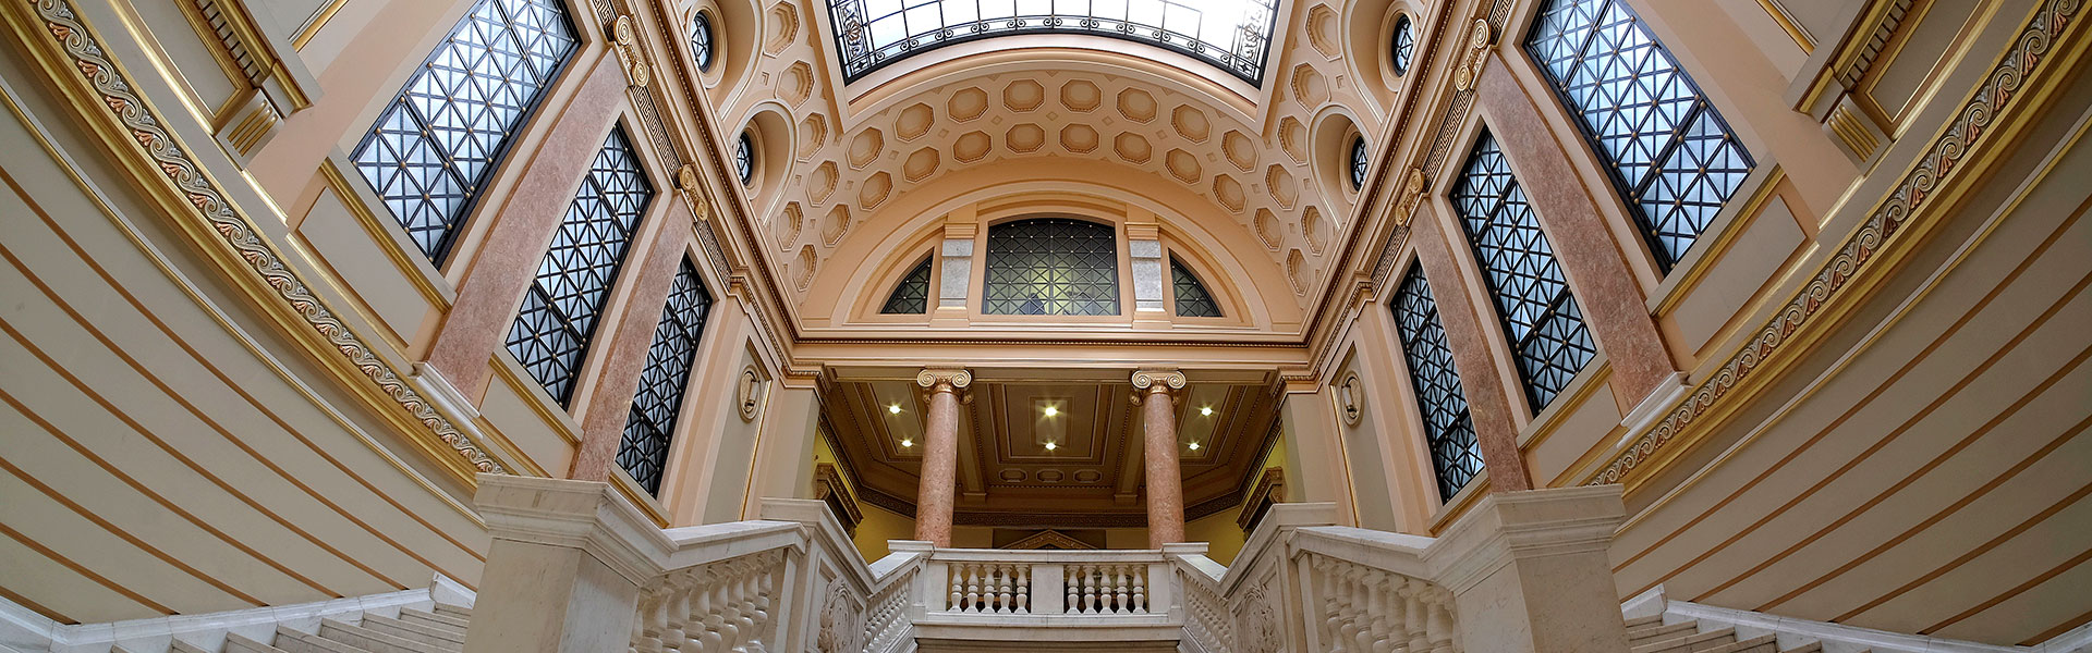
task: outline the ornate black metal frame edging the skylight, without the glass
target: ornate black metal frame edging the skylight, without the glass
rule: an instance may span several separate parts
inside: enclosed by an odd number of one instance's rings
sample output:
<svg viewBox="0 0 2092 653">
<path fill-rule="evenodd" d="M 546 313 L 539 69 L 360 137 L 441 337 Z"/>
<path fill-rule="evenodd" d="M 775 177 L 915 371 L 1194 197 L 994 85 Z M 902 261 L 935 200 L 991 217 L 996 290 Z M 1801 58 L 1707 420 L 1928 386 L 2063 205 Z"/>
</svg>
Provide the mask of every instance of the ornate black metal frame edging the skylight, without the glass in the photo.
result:
<svg viewBox="0 0 2092 653">
<path fill-rule="evenodd" d="M 1188 54 L 1192 59 L 1205 61 L 1236 80 L 1249 82 L 1255 88 L 1264 88 L 1264 73 L 1270 65 L 1272 36 L 1278 29 L 1278 6 L 1282 0 L 1251 0 L 1266 8 L 1264 31 L 1255 36 L 1255 52 L 1234 52 L 1218 44 L 1209 44 L 1192 33 L 1182 33 L 1176 29 L 1165 29 L 1159 25 L 1144 25 L 1125 19 L 1094 17 L 1090 13 L 1027 13 L 1013 17 L 977 19 L 958 25 L 939 25 L 933 31 L 914 33 L 906 40 L 885 46 L 870 48 L 849 42 L 851 25 L 864 29 L 883 19 L 902 17 L 906 13 L 943 2 L 979 2 L 979 0 L 904 0 L 900 10 L 887 13 L 877 19 L 866 19 L 864 0 L 828 0 L 831 36 L 835 40 L 835 52 L 843 67 L 843 84 L 858 82 L 887 65 L 904 61 L 914 54 L 937 50 L 943 46 L 956 46 L 964 42 L 975 42 L 983 38 L 998 36 L 1019 36 L 1019 33 L 1084 33 L 1084 36 L 1105 36 L 1128 40 L 1136 44 L 1157 46 L 1172 52 Z M 1063 0 L 1065 2 L 1065 0 Z M 1195 6 L 1178 0 L 1161 0 L 1167 6 L 1182 6 L 1186 10 L 1197 10 Z M 939 10 L 941 13 L 941 10 Z M 981 15 L 975 10 L 975 15 Z M 866 36 L 868 38 L 868 36 Z"/>
</svg>

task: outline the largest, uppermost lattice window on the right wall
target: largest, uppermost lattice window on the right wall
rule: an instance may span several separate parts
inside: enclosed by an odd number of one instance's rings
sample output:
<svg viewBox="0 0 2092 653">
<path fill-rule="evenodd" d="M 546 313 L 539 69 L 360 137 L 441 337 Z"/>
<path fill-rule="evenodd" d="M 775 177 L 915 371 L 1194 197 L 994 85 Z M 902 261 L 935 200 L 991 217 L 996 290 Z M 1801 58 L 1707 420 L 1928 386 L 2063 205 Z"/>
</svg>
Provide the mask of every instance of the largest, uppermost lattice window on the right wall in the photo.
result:
<svg viewBox="0 0 2092 653">
<path fill-rule="evenodd" d="M 1625 2 L 1546 0 L 1525 50 L 1667 272 L 1736 195 L 1751 153 Z"/>
</svg>

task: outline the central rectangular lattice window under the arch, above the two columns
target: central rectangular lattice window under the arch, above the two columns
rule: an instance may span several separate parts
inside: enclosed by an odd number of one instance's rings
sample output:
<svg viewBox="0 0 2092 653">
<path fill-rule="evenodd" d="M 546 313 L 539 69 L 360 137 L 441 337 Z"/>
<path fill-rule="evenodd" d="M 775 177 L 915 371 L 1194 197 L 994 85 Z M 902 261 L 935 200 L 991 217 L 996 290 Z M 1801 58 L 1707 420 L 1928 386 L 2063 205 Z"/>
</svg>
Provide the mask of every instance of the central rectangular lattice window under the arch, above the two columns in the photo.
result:
<svg viewBox="0 0 2092 653">
<path fill-rule="evenodd" d="M 1119 314 L 1119 243 L 1109 224 L 1031 218 L 987 228 L 987 314 Z"/>
</svg>

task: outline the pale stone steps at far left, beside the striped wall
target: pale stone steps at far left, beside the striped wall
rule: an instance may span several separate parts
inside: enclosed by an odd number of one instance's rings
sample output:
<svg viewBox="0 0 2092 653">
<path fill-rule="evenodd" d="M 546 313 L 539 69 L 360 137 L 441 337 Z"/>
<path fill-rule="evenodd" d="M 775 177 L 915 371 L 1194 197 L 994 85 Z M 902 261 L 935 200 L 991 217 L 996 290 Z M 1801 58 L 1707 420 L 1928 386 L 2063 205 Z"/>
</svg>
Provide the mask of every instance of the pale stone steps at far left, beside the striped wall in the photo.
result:
<svg viewBox="0 0 2092 653">
<path fill-rule="evenodd" d="M 458 653 L 464 651 L 471 617 L 471 609 L 444 603 L 429 611 L 404 607 L 400 617 L 366 613 L 356 624 L 320 620 L 318 632 L 276 626 L 272 643 L 226 634 L 222 653 Z M 184 640 L 174 640 L 169 651 L 220 653 Z"/>
</svg>

